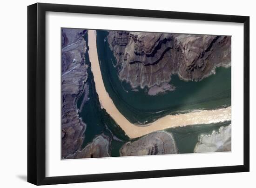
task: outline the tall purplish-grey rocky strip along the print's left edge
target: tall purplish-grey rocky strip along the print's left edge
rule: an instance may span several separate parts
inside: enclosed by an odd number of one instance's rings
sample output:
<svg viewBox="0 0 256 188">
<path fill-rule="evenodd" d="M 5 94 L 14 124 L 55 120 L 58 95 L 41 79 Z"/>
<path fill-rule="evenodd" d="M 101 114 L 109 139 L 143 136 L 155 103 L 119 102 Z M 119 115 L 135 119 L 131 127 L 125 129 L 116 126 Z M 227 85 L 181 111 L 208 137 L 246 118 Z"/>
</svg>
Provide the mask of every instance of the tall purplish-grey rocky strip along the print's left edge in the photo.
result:
<svg viewBox="0 0 256 188">
<path fill-rule="evenodd" d="M 61 47 L 61 157 L 75 153 L 82 144 L 86 124 L 78 116 L 76 99 L 85 92 L 87 81 L 85 64 L 86 41 L 82 29 L 62 29 Z"/>
</svg>

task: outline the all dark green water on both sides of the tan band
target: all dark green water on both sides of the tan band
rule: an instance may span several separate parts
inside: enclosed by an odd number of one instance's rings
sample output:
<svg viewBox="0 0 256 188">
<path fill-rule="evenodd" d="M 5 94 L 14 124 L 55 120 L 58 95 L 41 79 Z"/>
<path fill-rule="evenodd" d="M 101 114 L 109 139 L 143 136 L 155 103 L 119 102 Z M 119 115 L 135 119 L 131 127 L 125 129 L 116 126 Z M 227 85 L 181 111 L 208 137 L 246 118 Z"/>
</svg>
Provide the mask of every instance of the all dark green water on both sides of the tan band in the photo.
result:
<svg viewBox="0 0 256 188">
<path fill-rule="evenodd" d="M 181 81 L 177 75 L 172 76 L 171 84 L 176 90 L 164 95 L 149 96 L 144 90 L 131 91 L 126 82 L 121 82 L 113 64 L 116 64 L 108 42 L 104 41 L 106 31 L 97 31 L 97 51 L 101 64 L 104 85 L 119 111 L 133 123 L 146 120 L 154 121 L 166 114 L 183 113 L 193 109 L 215 109 L 231 105 L 231 68 L 217 68 L 216 74 L 199 82 Z M 88 36 L 84 39 L 88 42 Z M 88 52 L 85 54 L 86 62 L 90 67 Z M 97 134 L 106 134 L 111 138 L 111 156 L 120 156 L 119 149 L 129 141 L 128 136 L 115 123 L 110 115 L 101 109 L 98 94 L 95 90 L 94 75 L 88 68 L 89 100 L 79 113 L 87 124 L 84 148 Z M 128 91 L 128 93 L 126 92 Z M 77 107 L 81 106 L 83 94 L 77 100 Z M 159 112 L 161 111 L 161 112 Z M 170 128 L 166 131 L 174 135 L 179 153 L 193 153 L 200 134 L 211 134 L 229 122 L 193 125 L 181 128 Z M 138 139 L 138 138 L 137 138 Z M 137 140 L 137 139 L 133 139 Z"/>
</svg>

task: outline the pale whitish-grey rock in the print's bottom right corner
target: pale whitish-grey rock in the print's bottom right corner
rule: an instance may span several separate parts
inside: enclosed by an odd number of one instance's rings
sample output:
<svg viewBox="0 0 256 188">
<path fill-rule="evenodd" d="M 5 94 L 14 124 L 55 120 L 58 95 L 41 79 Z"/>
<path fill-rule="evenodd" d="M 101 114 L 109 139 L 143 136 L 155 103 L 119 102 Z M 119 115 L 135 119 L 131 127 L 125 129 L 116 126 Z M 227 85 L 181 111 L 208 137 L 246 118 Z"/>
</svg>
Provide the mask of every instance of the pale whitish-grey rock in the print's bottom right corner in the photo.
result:
<svg viewBox="0 0 256 188">
<path fill-rule="evenodd" d="M 194 153 L 223 151 L 231 151 L 231 124 L 212 134 L 202 134 L 194 149 Z"/>
</svg>

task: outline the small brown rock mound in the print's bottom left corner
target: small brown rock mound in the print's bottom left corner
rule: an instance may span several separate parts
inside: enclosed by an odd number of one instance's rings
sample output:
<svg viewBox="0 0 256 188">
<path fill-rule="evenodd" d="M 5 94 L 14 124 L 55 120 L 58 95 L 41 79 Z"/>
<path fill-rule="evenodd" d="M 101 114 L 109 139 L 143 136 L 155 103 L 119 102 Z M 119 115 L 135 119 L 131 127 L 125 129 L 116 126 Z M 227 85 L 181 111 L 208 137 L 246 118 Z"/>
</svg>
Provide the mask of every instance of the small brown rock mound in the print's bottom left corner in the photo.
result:
<svg viewBox="0 0 256 188">
<path fill-rule="evenodd" d="M 108 136 L 100 134 L 91 143 L 88 143 L 85 148 L 67 156 L 66 159 L 110 157 L 109 141 Z"/>
</svg>

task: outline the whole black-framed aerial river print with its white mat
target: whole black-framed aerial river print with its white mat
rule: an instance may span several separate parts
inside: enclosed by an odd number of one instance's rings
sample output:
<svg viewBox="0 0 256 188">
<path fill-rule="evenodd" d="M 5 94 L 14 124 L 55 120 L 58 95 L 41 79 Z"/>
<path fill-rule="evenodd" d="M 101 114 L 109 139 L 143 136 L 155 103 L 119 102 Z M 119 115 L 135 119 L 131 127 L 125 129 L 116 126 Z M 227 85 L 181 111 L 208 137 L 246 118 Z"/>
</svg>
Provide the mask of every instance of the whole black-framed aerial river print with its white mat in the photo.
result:
<svg viewBox="0 0 256 188">
<path fill-rule="evenodd" d="M 249 171 L 249 17 L 27 8 L 27 180 Z"/>
</svg>

